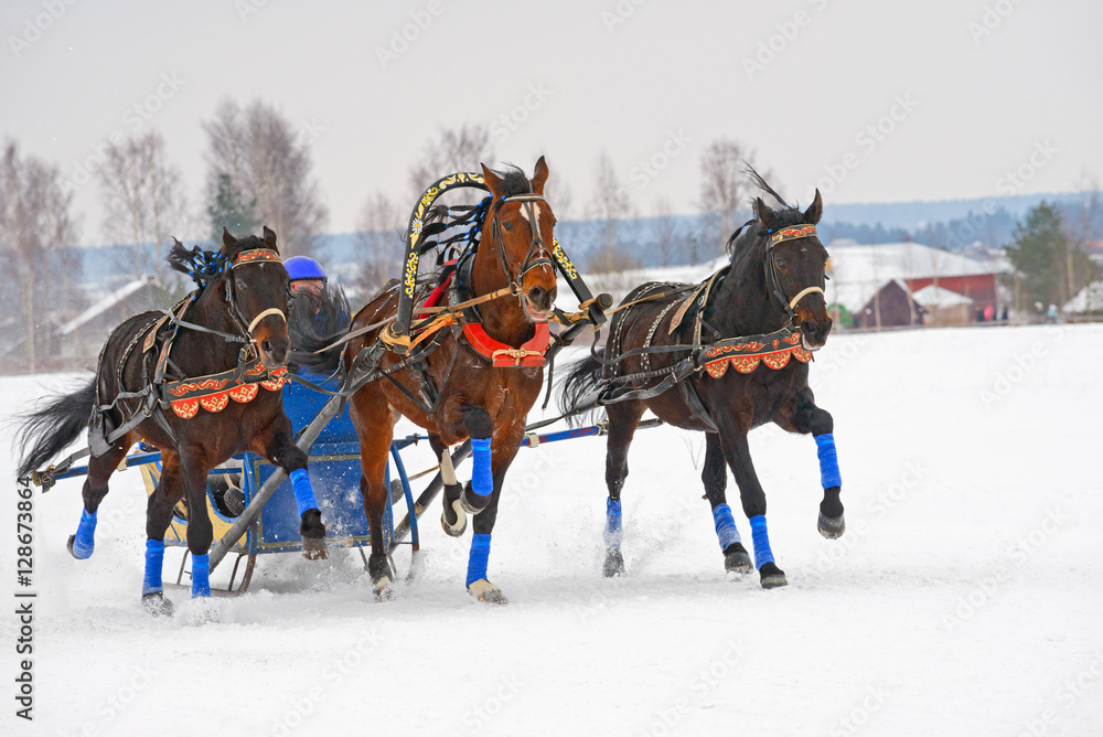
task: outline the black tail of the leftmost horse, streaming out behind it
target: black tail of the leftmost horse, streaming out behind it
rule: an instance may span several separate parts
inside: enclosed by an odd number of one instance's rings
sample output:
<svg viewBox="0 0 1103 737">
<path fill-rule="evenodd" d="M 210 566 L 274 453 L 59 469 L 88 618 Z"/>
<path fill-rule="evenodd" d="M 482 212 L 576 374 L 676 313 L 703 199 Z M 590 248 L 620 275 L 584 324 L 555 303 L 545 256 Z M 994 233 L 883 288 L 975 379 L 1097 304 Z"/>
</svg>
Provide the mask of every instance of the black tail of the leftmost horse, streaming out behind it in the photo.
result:
<svg viewBox="0 0 1103 737">
<path fill-rule="evenodd" d="M 87 429 L 96 407 L 96 377 L 71 394 L 54 394 L 45 406 L 15 417 L 15 436 L 21 460 L 18 477 L 23 478 L 72 445 Z"/>
</svg>

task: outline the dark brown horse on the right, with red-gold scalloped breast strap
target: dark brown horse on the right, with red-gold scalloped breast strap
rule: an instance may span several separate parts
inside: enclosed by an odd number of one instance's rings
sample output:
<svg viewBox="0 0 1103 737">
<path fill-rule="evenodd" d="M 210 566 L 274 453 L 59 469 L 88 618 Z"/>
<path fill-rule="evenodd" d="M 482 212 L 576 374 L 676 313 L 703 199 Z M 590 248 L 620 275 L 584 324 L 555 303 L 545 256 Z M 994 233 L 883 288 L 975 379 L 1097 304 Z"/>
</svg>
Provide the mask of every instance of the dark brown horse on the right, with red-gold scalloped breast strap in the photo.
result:
<svg viewBox="0 0 1103 737">
<path fill-rule="evenodd" d="M 783 209 L 774 211 L 756 197 L 754 220 L 728 242 L 730 264 L 703 285 L 650 282 L 630 292 L 624 308 L 613 316 L 603 354 L 596 351 L 580 361 L 559 387 L 564 413 L 585 408 L 587 399 L 592 400 L 610 383 L 625 392 L 623 400 L 610 395 L 607 398 L 612 403 L 601 403 L 609 421 L 606 576 L 624 573 L 621 491 L 628 477 L 628 449 L 646 409 L 664 423 L 706 434 L 702 481 L 727 570 L 743 574 L 754 568 L 726 502 L 725 461 L 750 520 L 761 585 L 788 584 L 770 548 L 765 494 L 747 441 L 748 432 L 765 423 L 815 438 L 824 489 L 817 526 L 827 538 L 844 532 L 834 425 L 831 414 L 816 406 L 808 387 L 807 362 L 832 328 L 823 292 L 827 250 L 815 232 L 823 201 L 816 190 L 812 205 L 801 212 L 754 178 Z M 697 319 L 687 319 L 694 310 Z M 698 352 L 687 360 L 690 351 L 670 348 L 675 345 L 697 345 Z M 661 346 L 667 352 L 652 352 L 653 348 L 662 351 Z M 621 352 L 629 355 L 615 361 Z M 664 376 L 677 381 L 656 384 L 655 378 Z"/>
</svg>

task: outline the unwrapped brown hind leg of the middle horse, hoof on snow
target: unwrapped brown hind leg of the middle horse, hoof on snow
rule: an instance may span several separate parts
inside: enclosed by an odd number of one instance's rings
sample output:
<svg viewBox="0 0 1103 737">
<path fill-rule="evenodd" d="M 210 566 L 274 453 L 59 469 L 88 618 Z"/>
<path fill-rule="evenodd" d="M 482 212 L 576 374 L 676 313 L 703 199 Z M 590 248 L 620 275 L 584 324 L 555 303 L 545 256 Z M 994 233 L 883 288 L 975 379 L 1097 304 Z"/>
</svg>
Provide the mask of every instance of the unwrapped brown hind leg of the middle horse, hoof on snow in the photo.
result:
<svg viewBox="0 0 1103 737">
<path fill-rule="evenodd" d="M 390 598 L 390 583 L 395 578 L 387 560 L 387 545 L 383 536 L 383 514 L 390 499 L 386 469 L 390 441 L 394 439 L 393 415 L 382 396 L 365 396 L 363 389 L 353 396 L 351 414 L 360 436 L 360 493 L 364 498 L 364 512 L 367 514 L 372 538 L 367 573 L 375 587 L 376 600 L 384 600 Z"/>
</svg>

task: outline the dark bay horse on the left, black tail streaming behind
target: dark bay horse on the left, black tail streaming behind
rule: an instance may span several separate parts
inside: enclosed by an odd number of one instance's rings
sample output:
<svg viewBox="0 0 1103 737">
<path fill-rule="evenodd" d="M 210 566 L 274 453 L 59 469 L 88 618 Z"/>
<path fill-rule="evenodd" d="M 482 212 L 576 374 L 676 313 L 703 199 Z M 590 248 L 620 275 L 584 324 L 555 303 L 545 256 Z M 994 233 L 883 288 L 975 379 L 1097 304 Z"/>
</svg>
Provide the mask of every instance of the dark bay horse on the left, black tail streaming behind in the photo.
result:
<svg viewBox="0 0 1103 737">
<path fill-rule="evenodd" d="M 169 313 L 142 312 L 122 322 L 107 339 L 87 384 L 24 415 L 19 466 L 19 476 L 26 477 L 89 430 L 84 512 L 68 541 L 73 556 L 85 559 L 95 548 L 96 515 L 108 480 L 127 451 L 140 440 L 161 451 L 161 479 L 146 512 L 142 584 L 142 604 L 154 616 L 172 613 L 161 569 L 164 533 L 182 498 L 192 598 L 211 596 L 207 472 L 235 453 L 251 451 L 288 472 L 303 554 L 325 557 L 325 527 L 307 456 L 292 441 L 280 391 L 290 345 L 289 285 L 276 234 L 265 227 L 263 239 L 235 238 L 224 229 L 218 252 L 189 252 L 176 242 L 168 261 L 191 276 L 197 289 Z"/>
</svg>

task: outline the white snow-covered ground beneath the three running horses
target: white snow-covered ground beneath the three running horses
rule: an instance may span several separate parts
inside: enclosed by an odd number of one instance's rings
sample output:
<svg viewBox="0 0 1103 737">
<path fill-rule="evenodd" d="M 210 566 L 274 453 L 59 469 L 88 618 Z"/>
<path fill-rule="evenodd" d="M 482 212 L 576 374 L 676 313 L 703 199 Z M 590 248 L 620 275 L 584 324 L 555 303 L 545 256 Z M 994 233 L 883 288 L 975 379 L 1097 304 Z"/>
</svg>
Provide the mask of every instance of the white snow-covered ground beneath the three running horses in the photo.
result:
<svg viewBox="0 0 1103 737">
<path fill-rule="evenodd" d="M 190 624 L 183 592 L 152 620 L 138 473 L 115 477 L 85 562 L 65 551 L 79 482 L 60 483 L 35 498 L 30 725 L 3 453 L 0 734 L 1103 734 L 1100 365 L 1101 325 L 832 338 L 813 376 L 848 528 L 816 533 L 813 441 L 753 432 L 790 580 L 770 591 L 725 575 L 703 439 L 668 428 L 630 457 L 623 579 L 600 576 L 604 440 L 522 451 L 491 555 L 499 608 L 464 592 L 470 537 L 446 537 L 435 508 L 426 570 L 394 601 L 373 601 L 355 552 L 271 555 L 219 623 Z M 0 413 L 60 381 L 0 381 Z"/>
</svg>

